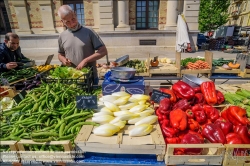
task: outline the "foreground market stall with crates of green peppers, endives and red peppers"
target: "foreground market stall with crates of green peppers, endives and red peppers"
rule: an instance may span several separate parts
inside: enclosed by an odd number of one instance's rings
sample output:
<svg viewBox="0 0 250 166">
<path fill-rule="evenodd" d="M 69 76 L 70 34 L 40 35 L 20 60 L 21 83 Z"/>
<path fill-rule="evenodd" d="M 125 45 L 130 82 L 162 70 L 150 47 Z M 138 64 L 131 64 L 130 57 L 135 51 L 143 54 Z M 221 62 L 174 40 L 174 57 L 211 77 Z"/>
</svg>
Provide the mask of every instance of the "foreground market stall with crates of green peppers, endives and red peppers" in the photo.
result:
<svg viewBox="0 0 250 166">
<path fill-rule="evenodd" d="M 94 89 L 91 68 L 42 68 L 31 69 L 37 72 L 31 81 L 4 86 L 2 162 L 236 165 L 237 158 L 243 166 L 250 161 L 249 84 L 215 85 L 185 74 L 165 88 L 146 87 L 135 68 L 114 67 Z"/>
</svg>

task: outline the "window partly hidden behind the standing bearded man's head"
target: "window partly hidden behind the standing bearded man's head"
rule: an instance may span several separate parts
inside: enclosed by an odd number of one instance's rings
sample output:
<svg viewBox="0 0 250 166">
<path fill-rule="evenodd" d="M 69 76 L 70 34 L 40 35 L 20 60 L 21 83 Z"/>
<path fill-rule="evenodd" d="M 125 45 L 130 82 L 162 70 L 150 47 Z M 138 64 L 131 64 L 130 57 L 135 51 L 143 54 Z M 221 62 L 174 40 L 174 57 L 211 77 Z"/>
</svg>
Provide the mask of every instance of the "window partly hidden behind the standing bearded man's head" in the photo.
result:
<svg viewBox="0 0 250 166">
<path fill-rule="evenodd" d="M 63 4 L 69 5 L 75 11 L 78 22 L 85 25 L 83 0 L 64 0 Z"/>
</svg>

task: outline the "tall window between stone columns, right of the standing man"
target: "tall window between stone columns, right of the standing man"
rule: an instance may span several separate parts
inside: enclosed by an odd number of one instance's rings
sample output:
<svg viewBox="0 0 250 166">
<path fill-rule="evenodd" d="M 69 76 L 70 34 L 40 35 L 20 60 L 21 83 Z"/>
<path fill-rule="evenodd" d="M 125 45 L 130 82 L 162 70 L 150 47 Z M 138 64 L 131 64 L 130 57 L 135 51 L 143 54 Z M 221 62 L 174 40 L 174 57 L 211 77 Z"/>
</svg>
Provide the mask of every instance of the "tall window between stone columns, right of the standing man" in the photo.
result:
<svg viewBox="0 0 250 166">
<path fill-rule="evenodd" d="M 158 0 L 136 1 L 136 29 L 158 29 Z"/>
</svg>

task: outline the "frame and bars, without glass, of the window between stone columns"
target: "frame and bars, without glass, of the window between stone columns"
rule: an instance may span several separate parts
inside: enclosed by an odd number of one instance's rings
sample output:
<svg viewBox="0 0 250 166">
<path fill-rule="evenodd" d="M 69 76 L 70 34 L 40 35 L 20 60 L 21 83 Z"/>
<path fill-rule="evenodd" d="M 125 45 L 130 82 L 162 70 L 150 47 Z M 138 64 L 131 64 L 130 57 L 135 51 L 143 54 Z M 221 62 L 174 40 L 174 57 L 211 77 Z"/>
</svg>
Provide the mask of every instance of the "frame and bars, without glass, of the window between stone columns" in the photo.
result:
<svg viewBox="0 0 250 166">
<path fill-rule="evenodd" d="M 158 28 L 158 26 L 159 26 L 159 8 L 160 8 L 160 0 L 154 0 L 154 1 L 157 1 L 158 2 L 158 9 L 157 9 L 157 12 L 158 12 L 158 16 L 157 16 L 157 27 L 155 27 L 155 28 L 149 28 L 149 1 L 150 0 L 144 0 L 144 1 L 146 1 L 146 17 L 145 17 L 145 19 L 146 19 L 146 27 L 145 28 L 138 28 L 137 27 L 137 19 L 138 19 L 138 17 L 137 17 L 137 2 L 138 1 L 143 1 L 143 0 L 136 0 L 136 5 L 135 5 L 135 27 L 136 27 L 136 30 L 158 30 L 159 28 Z M 153 6 L 154 7 L 154 6 Z M 144 17 L 140 17 L 140 18 L 144 18 Z"/>
</svg>

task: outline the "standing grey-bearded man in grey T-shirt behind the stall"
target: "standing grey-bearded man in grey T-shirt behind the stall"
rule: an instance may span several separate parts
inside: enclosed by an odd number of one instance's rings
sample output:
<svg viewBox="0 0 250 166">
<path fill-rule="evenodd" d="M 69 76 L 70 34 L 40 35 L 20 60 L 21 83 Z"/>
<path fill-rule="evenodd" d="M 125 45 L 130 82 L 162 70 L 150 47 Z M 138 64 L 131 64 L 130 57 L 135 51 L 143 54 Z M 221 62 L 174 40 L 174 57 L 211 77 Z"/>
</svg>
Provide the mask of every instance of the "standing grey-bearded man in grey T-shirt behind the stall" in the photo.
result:
<svg viewBox="0 0 250 166">
<path fill-rule="evenodd" d="M 75 64 L 78 70 L 93 66 L 94 85 L 98 85 L 96 60 L 108 54 L 106 46 L 96 32 L 80 25 L 70 6 L 61 6 L 58 16 L 67 28 L 58 38 L 58 59 L 66 66 Z"/>
</svg>

